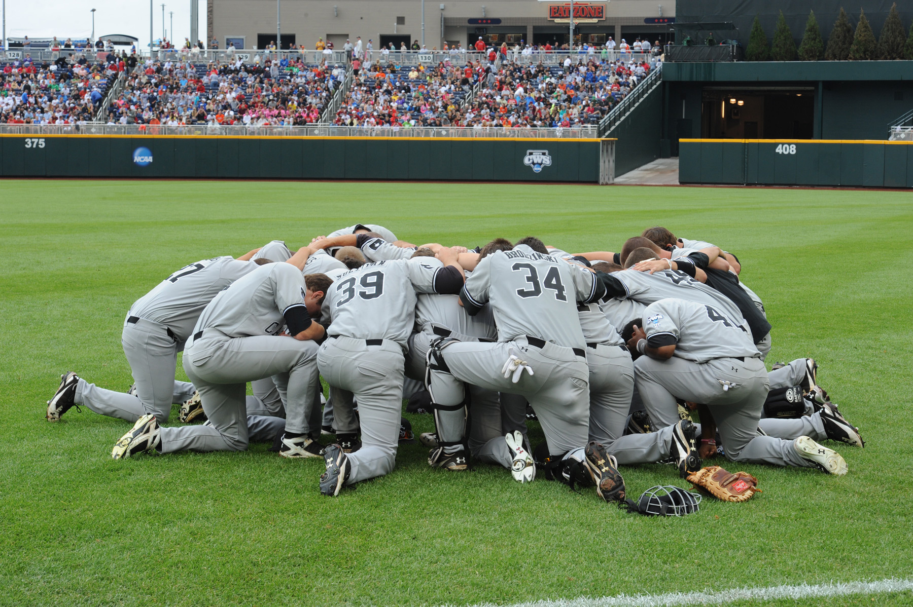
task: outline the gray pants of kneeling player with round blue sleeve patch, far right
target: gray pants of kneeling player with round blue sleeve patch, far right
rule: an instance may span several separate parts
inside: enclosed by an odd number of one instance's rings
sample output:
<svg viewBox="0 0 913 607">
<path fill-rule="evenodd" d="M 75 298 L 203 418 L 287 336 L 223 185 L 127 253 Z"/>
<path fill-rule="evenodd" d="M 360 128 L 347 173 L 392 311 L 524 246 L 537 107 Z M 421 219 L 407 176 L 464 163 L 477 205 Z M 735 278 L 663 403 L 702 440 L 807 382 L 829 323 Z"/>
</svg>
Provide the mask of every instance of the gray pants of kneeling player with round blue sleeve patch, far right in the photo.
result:
<svg viewBox="0 0 913 607">
<path fill-rule="evenodd" d="M 658 427 L 678 422 L 678 396 L 708 406 L 730 460 L 811 466 L 796 452 L 794 441 L 758 434 L 770 387 L 761 358 L 714 358 L 698 364 L 677 356 L 661 361 L 644 355 L 635 361 L 635 384 Z"/>
</svg>

